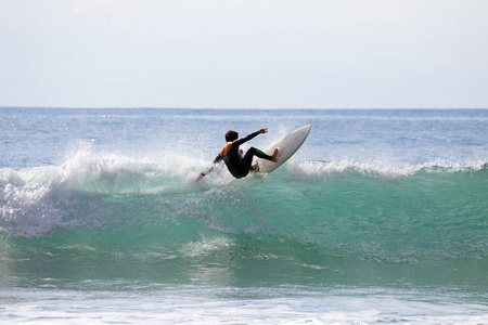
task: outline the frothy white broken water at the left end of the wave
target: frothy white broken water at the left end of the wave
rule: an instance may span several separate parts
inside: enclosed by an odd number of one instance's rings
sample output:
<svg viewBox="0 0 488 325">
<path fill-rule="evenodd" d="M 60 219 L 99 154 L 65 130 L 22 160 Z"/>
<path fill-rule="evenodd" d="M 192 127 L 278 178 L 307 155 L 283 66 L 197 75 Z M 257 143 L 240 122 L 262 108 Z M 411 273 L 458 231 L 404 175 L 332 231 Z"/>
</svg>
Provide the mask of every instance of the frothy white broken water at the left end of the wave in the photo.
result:
<svg viewBox="0 0 488 325">
<path fill-rule="evenodd" d="M 0 231 L 22 236 L 49 235 L 79 225 L 70 218 L 98 196 L 137 194 L 147 174 L 145 161 L 79 151 L 61 166 L 0 170 Z"/>
</svg>

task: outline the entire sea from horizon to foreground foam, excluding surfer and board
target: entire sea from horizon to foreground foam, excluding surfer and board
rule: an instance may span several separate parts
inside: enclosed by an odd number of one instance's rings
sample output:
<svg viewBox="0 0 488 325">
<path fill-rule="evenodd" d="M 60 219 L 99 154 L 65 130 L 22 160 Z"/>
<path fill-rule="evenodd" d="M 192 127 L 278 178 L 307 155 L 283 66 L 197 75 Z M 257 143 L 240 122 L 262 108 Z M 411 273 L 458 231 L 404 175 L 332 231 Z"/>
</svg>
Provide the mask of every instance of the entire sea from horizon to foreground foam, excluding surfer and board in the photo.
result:
<svg viewBox="0 0 488 325">
<path fill-rule="evenodd" d="M 0 323 L 488 324 L 488 109 L 0 108 Z"/>
</svg>

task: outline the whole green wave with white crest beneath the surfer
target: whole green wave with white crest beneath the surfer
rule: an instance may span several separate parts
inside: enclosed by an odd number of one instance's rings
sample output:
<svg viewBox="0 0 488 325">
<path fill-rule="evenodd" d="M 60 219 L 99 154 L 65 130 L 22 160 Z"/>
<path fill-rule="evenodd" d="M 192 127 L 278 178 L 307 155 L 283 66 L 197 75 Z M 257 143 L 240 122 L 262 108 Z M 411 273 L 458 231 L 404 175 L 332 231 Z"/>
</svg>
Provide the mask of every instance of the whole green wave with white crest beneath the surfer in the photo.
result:
<svg viewBox="0 0 488 325">
<path fill-rule="evenodd" d="M 195 183 L 205 165 L 78 151 L 60 166 L 1 169 L 0 266 L 40 286 L 488 286 L 486 164 L 290 161 L 241 180 L 222 167 Z"/>
</svg>

